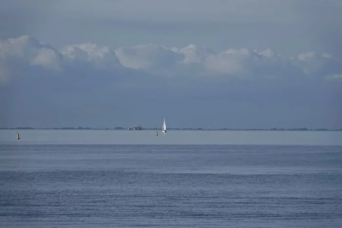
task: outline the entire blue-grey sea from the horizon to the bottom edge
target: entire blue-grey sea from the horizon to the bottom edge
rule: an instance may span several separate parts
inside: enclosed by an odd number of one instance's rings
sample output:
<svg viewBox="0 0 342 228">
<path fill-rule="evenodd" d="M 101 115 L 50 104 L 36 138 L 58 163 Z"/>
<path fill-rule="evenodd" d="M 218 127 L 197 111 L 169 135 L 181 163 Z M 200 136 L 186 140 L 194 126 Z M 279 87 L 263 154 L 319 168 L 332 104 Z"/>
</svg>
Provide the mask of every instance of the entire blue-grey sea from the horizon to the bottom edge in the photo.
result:
<svg viewBox="0 0 342 228">
<path fill-rule="evenodd" d="M 0 130 L 0 227 L 341 228 L 342 131 Z"/>
</svg>

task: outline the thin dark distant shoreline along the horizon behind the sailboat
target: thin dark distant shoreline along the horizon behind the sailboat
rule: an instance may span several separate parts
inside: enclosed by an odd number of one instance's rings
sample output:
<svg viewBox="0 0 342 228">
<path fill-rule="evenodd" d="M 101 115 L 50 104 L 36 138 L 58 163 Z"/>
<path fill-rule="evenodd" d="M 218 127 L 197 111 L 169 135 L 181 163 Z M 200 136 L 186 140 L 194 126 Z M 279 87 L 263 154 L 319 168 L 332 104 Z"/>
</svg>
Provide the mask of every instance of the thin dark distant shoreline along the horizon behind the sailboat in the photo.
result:
<svg viewBox="0 0 342 228">
<path fill-rule="evenodd" d="M 114 127 L 114 128 L 91 128 L 91 127 L 0 127 L 0 130 L 127 130 L 124 127 Z M 162 128 L 142 128 L 142 130 L 162 130 Z M 308 129 L 306 127 L 303 128 L 218 128 L 218 129 L 204 129 L 204 128 L 168 128 L 168 130 L 205 130 L 205 131 L 342 131 L 341 129 L 326 129 L 326 128 L 317 128 L 317 129 Z"/>
</svg>

